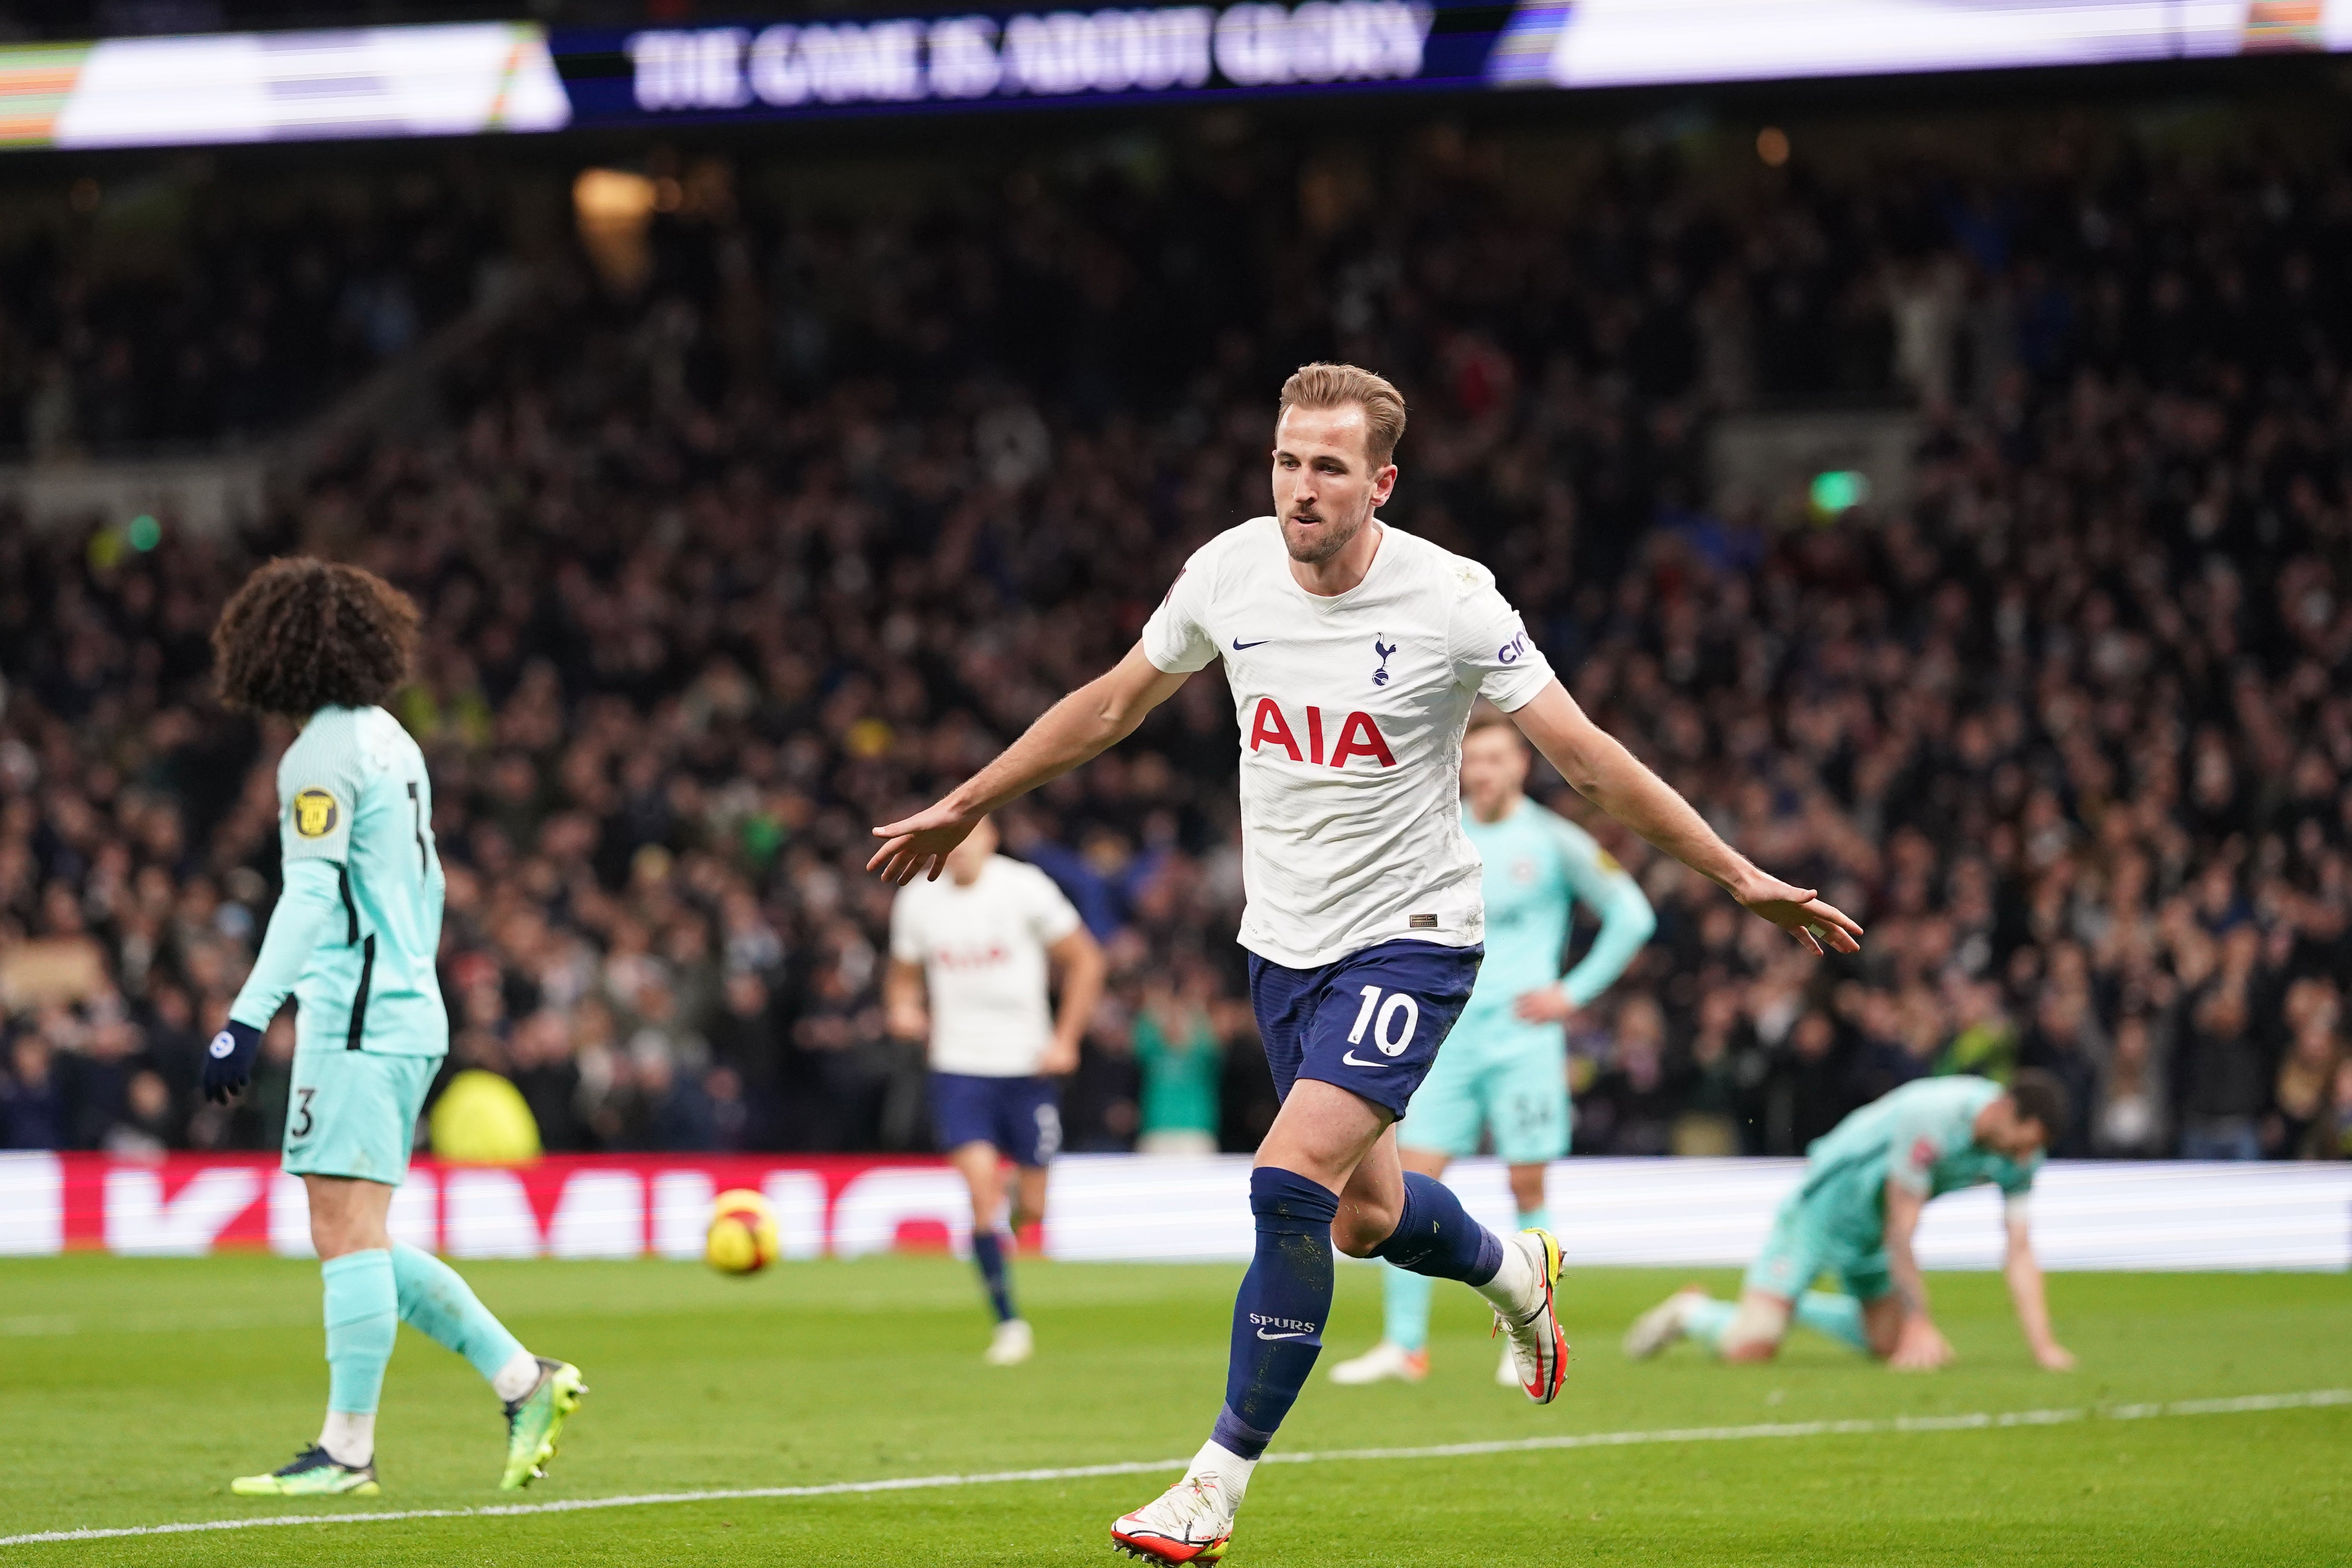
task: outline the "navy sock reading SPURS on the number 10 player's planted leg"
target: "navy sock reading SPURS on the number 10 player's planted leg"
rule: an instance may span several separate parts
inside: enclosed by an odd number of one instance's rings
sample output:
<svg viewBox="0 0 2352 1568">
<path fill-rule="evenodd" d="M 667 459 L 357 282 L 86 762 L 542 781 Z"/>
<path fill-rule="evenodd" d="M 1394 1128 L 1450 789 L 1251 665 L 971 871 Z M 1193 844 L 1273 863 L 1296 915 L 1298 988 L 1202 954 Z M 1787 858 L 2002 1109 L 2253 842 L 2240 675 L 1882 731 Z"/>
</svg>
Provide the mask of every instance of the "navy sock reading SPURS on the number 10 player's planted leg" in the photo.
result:
<svg viewBox="0 0 2352 1568">
<path fill-rule="evenodd" d="M 1232 1300 L 1225 1408 L 1211 1441 L 1256 1460 L 1322 1354 L 1338 1194 L 1294 1171 L 1258 1166 L 1249 1173 L 1249 1211 L 1258 1215 L 1258 1253 Z"/>
</svg>

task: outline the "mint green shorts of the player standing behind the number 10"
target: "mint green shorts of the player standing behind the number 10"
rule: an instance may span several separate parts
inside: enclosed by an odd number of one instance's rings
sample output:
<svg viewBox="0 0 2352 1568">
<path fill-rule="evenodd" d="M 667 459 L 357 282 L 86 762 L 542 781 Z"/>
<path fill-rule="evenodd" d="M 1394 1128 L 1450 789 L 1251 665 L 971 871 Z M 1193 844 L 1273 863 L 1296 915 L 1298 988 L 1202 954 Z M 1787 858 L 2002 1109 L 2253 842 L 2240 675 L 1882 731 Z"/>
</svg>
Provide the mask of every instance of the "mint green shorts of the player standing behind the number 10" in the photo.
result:
<svg viewBox="0 0 2352 1568">
<path fill-rule="evenodd" d="M 1510 1013 L 1463 1018 L 1397 1124 L 1399 1150 L 1463 1159 L 1479 1133 L 1496 1159 L 1534 1166 L 1569 1152 L 1569 1037 Z"/>
</svg>

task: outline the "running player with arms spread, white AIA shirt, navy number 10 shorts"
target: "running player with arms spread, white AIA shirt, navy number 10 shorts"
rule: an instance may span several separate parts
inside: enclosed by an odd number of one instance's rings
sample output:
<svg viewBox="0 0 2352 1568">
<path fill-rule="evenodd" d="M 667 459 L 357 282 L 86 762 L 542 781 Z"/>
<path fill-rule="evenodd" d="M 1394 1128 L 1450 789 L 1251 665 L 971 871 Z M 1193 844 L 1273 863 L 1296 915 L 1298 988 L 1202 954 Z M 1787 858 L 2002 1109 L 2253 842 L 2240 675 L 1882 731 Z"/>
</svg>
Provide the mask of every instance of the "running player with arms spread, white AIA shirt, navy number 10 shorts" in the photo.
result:
<svg viewBox="0 0 2352 1568">
<path fill-rule="evenodd" d="M 1602 733 L 1552 679 L 1494 574 L 1376 517 L 1404 400 L 1310 364 L 1282 388 L 1275 515 L 1202 545 L 1105 675 L 1047 710 L 946 799 L 875 827 L 870 867 L 938 875 L 1004 802 L 1103 752 L 1192 670 L 1225 661 L 1242 741 L 1251 1006 L 1282 1110 L 1258 1147 L 1258 1246 L 1232 1309 L 1225 1406 L 1185 1476 L 1112 1526 L 1164 1563 L 1214 1561 L 1298 1399 L 1331 1309 L 1331 1248 L 1461 1279 L 1489 1300 L 1536 1401 L 1559 1394 L 1559 1246 L 1501 1239 L 1397 1164 L 1395 1121 L 1477 978 L 1484 910 L 1456 769 L 1470 703 L 1512 715 L 1552 766 L 1658 849 L 1811 950 L 1860 929 L 1766 877 Z"/>
</svg>

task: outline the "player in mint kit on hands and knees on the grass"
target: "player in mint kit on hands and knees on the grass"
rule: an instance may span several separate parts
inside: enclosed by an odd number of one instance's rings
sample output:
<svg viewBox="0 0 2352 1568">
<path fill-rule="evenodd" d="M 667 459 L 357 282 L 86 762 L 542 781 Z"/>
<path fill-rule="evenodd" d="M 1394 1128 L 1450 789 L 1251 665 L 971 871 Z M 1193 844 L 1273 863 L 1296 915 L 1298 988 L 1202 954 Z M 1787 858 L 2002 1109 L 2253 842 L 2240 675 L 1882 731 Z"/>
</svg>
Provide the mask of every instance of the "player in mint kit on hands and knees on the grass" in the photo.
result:
<svg viewBox="0 0 2352 1568">
<path fill-rule="evenodd" d="M 1738 1305 L 1677 1291 L 1625 1331 L 1625 1354 L 1691 1338 L 1724 1361 L 1766 1361 L 1795 1319 L 1898 1371 L 1945 1366 L 1952 1345 L 1926 1312 L 1912 1239 L 1929 1199 L 1992 1182 L 2006 1194 L 2002 1269 L 2025 1342 L 2034 1361 L 2067 1371 L 2074 1356 L 2051 1338 L 2025 1194 L 2070 1114 L 2065 1086 L 2034 1067 L 2006 1091 L 1992 1079 L 1919 1079 L 1860 1107 L 1806 1150 L 1804 1180 L 1780 1201 Z M 1844 1288 L 1813 1291 L 1820 1274 Z"/>
</svg>

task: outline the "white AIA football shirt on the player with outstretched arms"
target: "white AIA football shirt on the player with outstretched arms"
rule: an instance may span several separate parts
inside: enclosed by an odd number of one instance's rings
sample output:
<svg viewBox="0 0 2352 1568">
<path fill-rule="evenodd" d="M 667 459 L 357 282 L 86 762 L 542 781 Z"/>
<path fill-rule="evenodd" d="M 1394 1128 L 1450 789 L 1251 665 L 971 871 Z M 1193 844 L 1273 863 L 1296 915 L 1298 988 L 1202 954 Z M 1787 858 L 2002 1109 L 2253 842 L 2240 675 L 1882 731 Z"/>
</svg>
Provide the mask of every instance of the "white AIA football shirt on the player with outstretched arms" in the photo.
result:
<svg viewBox="0 0 2352 1568">
<path fill-rule="evenodd" d="M 1225 661 L 1242 729 L 1240 940 L 1291 969 L 1395 938 L 1484 940 L 1463 726 L 1475 698 L 1512 712 L 1552 679 L 1491 571 L 1371 527 L 1371 571 L 1331 597 L 1291 576 L 1275 517 L 1225 529 L 1143 625 L 1160 670 Z"/>
</svg>

